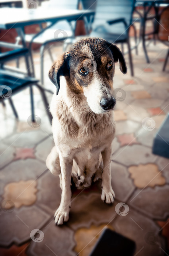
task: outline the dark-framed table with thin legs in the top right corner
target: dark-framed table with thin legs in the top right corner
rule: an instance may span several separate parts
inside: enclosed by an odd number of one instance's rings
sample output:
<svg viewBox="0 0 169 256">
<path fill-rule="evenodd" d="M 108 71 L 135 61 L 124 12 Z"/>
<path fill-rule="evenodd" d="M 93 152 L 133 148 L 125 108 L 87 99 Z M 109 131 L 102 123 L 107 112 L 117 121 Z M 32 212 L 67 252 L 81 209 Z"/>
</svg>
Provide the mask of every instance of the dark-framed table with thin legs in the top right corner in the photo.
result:
<svg viewBox="0 0 169 256">
<path fill-rule="evenodd" d="M 164 8 L 164 10 L 162 10 L 159 13 L 159 7 L 160 7 L 161 4 L 165 4 L 166 7 Z M 155 35 L 158 35 L 158 27 L 159 27 L 159 24 L 160 24 L 160 16 L 161 16 L 162 12 L 164 12 L 166 10 L 166 8 L 169 7 L 169 0 L 155 0 L 155 1 L 154 0 L 137 0 L 137 4 L 135 5 L 135 7 L 139 7 L 139 6 L 143 7 L 143 15 L 138 10 L 135 10 L 135 11 L 139 14 L 139 16 L 141 18 L 141 35 L 140 36 L 142 38 L 142 45 L 143 45 L 143 50 L 144 50 L 144 53 L 145 53 L 146 61 L 147 61 L 147 63 L 150 63 L 149 56 L 148 56 L 147 50 L 146 50 L 146 45 L 145 45 L 145 36 L 146 35 L 153 35 L 155 37 Z M 146 10 L 146 8 L 147 8 L 147 10 Z M 148 16 L 151 8 L 154 8 L 154 11 L 155 11 L 154 16 Z M 155 20 L 154 30 L 152 32 L 146 34 L 145 33 L 146 20 L 150 20 L 150 19 Z"/>
</svg>

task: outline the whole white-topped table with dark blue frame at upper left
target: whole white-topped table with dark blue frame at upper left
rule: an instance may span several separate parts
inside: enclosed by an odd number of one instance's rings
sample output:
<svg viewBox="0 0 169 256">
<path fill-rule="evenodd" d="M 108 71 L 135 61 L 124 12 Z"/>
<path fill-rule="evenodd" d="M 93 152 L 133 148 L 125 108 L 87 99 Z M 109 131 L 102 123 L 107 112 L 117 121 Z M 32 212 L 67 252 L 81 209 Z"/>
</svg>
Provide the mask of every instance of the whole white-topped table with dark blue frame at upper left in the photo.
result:
<svg viewBox="0 0 169 256">
<path fill-rule="evenodd" d="M 35 37 L 39 34 L 43 33 L 50 26 L 54 25 L 58 21 L 67 20 L 68 22 L 77 21 L 78 19 L 83 19 L 85 16 L 89 17 L 94 15 L 94 11 L 90 10 L 63 10 L 56 8 L 42 8 L 38 7 L 37 9 L 24 9 L 24 8 L 1 8 L 0 9 L 0 29 L 16 29 L 18 35 L 21 38 L 22 46 L 18 44 L 9 44 L 7 42 L 0 42 L 0 46 L 8 47 L 8 48 L 26 48 L 24 27 L 33 24 L 42 24 L 44 22 L 50 22 L 50 25 L 45 29 L 42 29 L 39 33 L 37 33 Z M 31 58 L 31 68 L 27 60 L 27 69 L 28 75 L 34 76 L 34 67 L 32 61 L 31 50 L 29 51 L 29 56 Z"/>
</svg>

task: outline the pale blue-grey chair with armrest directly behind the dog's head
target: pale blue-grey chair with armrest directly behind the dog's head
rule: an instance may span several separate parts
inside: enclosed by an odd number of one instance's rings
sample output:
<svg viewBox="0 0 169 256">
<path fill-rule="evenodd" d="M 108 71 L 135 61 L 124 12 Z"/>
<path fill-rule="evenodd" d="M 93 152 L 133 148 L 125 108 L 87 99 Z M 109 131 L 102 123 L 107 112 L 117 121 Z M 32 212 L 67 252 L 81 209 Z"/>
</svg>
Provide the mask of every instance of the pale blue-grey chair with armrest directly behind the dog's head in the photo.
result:
<svg viewBox="0 0 169 256">
<path fill-rule="evenodd" d="M 131 75 L 134 76 L 129 40 L 135 0 L 98 0 L 91 37 L 101 37 L 111 43 L 126 43 Z"/>
</svg>

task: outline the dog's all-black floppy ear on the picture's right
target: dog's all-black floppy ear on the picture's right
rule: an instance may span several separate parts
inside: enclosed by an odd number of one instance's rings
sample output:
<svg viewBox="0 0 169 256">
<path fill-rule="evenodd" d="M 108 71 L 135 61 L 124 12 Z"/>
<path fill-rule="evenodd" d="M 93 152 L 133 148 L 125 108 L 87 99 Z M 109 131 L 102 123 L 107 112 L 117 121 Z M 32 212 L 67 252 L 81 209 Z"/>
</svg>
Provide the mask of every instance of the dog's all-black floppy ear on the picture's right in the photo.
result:
<svg viewBox="0 0 169 256">
<path fill-rule="evenodd" d="M 108 44 L 108 48 L 111 50 L 111 52 L 113 54 L 114 61 L 118 62 L 118 60 L 119 60 L 120 71 L 123 74 L 126 74 L 127 66 L 126 66 L 126 61 L 124 60 L 123 53 L 120 51 L 120 49 L 116 45 L 111 44 L 110 42 L 107 42 L 107 44 Z"/>
</svg>

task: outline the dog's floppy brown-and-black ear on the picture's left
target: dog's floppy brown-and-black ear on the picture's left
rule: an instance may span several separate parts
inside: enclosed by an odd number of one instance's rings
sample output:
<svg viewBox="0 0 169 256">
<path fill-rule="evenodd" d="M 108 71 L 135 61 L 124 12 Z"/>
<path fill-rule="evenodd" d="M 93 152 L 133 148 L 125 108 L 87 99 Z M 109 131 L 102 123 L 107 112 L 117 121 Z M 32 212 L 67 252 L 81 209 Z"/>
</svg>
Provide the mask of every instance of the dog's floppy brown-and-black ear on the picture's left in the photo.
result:
<svg viewBox="0 0 169 256">
<path fill-rule="evenodd" d="M 49 70 L 49 78 L 56 86 L 56 95 L 58 95 L 60 89 L 60 76 L 69 75 L 68 66 L 68 55 L 63 53 L 61 58 L 57 60 Z"/>
</svg>

